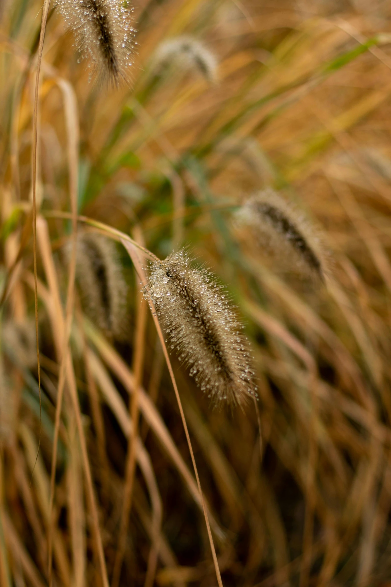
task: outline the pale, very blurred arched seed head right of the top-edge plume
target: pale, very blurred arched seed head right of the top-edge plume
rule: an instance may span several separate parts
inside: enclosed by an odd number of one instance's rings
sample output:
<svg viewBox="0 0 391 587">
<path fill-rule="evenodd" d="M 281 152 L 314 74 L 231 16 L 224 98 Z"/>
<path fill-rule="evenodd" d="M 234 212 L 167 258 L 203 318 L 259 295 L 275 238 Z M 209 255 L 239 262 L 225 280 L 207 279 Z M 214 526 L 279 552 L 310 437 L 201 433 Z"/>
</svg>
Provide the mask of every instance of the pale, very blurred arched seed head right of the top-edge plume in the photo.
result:
<svg viewBox="0 0 391 587">
<path fill-rule="evenodd" d="M 210 83 L 217 79 L 215 55 L 191 36 L 179 36 L 162 42 L 155 53 L 152 68 L 158 75 L 167 69 L 174 69 L 197 73 Z"/>
</svg>

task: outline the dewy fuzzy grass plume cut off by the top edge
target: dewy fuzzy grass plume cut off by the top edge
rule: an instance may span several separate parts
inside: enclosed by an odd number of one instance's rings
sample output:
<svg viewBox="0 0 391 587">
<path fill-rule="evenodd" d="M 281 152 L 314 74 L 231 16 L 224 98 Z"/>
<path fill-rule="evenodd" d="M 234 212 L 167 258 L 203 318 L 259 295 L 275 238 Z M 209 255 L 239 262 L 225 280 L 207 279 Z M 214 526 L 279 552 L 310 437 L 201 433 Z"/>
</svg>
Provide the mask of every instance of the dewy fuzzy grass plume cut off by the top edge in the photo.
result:
<svg viewBox="0 0 391 587">
<path fill-rule="evenodd" d="M 128 82 L 136 44 L 130 0 L 57 0 L 57 5 L 97 73 Z"/>
</svg>

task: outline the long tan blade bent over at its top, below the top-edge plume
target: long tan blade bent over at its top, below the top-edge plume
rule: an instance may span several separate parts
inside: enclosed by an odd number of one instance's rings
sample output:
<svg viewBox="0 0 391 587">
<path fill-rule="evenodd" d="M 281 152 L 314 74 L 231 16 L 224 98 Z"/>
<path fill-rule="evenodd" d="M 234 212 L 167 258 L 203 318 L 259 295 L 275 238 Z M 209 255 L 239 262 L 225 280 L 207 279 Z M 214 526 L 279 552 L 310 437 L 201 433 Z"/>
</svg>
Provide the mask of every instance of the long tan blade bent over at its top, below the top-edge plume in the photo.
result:
<svg viewBox="0 0 391 587">
<path fill-rule="evenodd" d="M 61 333 L 62 348 L 58 359 L 60 360 L 60 375 L 57 392 L 57 405 L 56 405 L 56 416 L 55 416 L 55 434 L 53 439 L 53 452 L 52 452 L 52 470 L 50 477 L 50 512 L 53 508 L 53 500 L 55 493 L 55 473 L 56 473 L 56 461 L 57 461 L 57 442 L 59 436 L 60 426 L 60 414 L 62 409 L 62 398 L 65 384 L 65 370 L 67 361 L 67 347 L 70 335 L 70 328 L 72 325 L 73 316 L 73 299 L 74 299 L 74 279 L 76 274 L 76 242 L 77 242 L 77 190 L 79 184 L 79 116 L 77 113 L 77 101 L 76 95 L 73 91 L 72 86 L 69 82 L 64 79 L 57 79 L 57 85 L 59 86 L 64 101 L 64 114 L 65 123 L 67 130 L 67 157 L 68 157 L 68 168 L 69 168 L 69 195 L 70 195 L 70 207 L 72 213 L 72 253 L 69 264 L 69 276 L 68 276 L 68 288 L 67 288 L 67 301 L 66 301 L 66 317 L 64 330 Z M 52 264 L 50 264 L 51 266 Z M 53 278 L 52 281 L 55 281 Z M 59 308 L 60 310 L 60 308 Z M 61 309 L 62 312 L 62 309 Z M 57 349 L 58 352 L 58 349 Z M 52 517 L 49 516 L 49 532 L 48 532 L 48 566 L 49 566 L 49 585 L 52 582 Z"/>
</svg>

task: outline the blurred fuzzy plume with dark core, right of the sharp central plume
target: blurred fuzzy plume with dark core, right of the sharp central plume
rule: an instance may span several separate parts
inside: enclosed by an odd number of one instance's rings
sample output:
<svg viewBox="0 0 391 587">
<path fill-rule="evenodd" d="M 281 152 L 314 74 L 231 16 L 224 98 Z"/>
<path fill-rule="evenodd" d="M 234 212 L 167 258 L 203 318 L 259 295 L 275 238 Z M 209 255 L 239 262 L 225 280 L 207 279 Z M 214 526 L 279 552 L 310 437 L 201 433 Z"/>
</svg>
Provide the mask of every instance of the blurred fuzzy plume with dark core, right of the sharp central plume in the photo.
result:
<svg viewBox="0 0 391 587">
<path fill-rule="evenodd" d="M 325 281 L 328 273 L 327 255 L 318 234 L 301 212 L 271 188 L 249 198 L 236 214 L 242 241 L 249 238 L 251 247 L 276 261 L 275 267 L 302 276 Z"/>
</svg>

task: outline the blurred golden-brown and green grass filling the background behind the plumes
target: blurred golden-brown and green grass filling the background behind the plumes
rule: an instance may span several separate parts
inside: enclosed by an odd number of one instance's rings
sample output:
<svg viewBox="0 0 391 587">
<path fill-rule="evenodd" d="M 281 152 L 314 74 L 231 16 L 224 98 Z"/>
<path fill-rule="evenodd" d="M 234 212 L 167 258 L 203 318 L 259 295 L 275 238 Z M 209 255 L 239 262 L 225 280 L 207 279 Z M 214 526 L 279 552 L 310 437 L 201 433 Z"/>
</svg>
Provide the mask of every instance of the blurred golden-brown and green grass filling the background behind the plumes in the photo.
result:
<svg viewBox="0 0 391 587">
<path fill-rule="evenodd" d="M 32 112 L 42 2 L 0 4 L 1 584 L 48 581 L 67 296 L 62 247 L 72 232 L 60 212 L 70 211 L 73 173 L 79 214 L 133 235 L 161 258 L 188 245 L 246 320 L 262 452 L 251 404 L 210 410 L 173 359 L 224 585 L 391 585 L 391 2 L 134 6 L 131 89 L 89 82 L 72 35 L 53 6 L 49 12 L 38 117 L 42 436 L 32 475 L 40 436 Z M 155 50 L 179 35 L 216 56 L 215 82 L 192 70 L 156 75 Z M 322 229 L 332 259 L 328 288 L 282 274 L 250 241 L 237 240 L 232 212 L 268 186 Z M 123 339 L 99 332 L 76 296 L 69 346 L 109 577 L 141 308 L 139 278 L 119 245 L 118 252 L 129 288 Z M 186 438 L 149 315 L 141 344 L 145 391 L 120 585 L 215 585 Z M 67 379 L 53 584 L 100 586 L 71 388 Z"/>
</svg>

